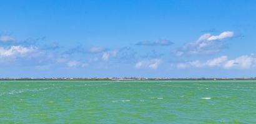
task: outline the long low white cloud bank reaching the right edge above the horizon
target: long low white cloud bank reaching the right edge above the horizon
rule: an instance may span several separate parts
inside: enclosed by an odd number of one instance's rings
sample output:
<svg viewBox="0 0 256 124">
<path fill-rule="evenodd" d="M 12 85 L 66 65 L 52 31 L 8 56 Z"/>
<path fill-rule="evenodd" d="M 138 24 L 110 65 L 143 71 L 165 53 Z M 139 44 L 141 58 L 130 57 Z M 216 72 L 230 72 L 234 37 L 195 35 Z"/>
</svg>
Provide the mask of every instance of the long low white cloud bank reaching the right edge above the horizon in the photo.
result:
<svg viewBox="0 0 256 124">
<path fill-rule="evenodd" d="M 227 56 L 220 56 L 219 58 L 214 58 L 212 60 L 207 60 L 205 62 L 189 61 L 185 63 L 178 63 L 177 68 L 184 69 L 189 67 L 202 68 L 202 67 L 220 67 L 224 69 L 250 69 L 256 66 L 256 56 L 243 55 L 239 56 L 233 60 L 228 60 Z"/>
</svg>

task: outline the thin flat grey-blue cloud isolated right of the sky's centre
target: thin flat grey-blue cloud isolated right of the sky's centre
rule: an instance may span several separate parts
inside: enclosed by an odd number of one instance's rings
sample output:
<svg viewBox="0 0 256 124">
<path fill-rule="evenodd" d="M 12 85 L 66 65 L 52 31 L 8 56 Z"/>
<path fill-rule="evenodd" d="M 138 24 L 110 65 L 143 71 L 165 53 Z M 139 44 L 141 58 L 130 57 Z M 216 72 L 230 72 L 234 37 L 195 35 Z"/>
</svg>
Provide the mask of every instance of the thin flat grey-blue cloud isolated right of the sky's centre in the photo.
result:
<svg viewBox="0 0 256 124">
<path fill-rule="evenodd" d="M 169 46 L 174 44 L 170 40 L 157 40 L 155 42 L 145 41 L 136 43 L 136 45 L 143 45 L 143 46 Z"/>
</svg>

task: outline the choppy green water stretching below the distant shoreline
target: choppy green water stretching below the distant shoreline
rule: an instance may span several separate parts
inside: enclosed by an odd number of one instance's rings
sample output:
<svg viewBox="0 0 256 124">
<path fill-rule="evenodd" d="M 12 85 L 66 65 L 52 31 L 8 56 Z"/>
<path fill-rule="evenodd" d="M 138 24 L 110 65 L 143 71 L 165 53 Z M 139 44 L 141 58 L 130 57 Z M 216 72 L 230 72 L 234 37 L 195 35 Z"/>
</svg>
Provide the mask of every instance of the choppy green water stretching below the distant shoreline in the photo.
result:
<svg viewBox="0 0 256 124">
<path fill-rule="evenodd" d="M 0 81 L 0 123 L 256 123 L 256 82 Z"/>
</svg>

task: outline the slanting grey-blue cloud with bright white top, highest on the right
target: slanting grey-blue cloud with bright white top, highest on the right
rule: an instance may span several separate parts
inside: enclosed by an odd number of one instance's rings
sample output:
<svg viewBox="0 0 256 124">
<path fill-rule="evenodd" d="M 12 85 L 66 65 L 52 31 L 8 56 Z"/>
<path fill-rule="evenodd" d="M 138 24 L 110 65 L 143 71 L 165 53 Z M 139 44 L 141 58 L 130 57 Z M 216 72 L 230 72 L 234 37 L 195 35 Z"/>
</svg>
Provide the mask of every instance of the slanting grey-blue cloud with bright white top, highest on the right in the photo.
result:
<svg viewBox="0 0 256 124">
<path fill-rule="evenodd" d="M 220 35 L 205 33 L 197 41 L 186 43 L 180 50 L 176 50 L 175 55 L 207 55 L 217 53 L 225 46 L 222 40 L 231 37 L 234 37 L 234 32 L 226 31 L 220 33 Z"/>
</svg>

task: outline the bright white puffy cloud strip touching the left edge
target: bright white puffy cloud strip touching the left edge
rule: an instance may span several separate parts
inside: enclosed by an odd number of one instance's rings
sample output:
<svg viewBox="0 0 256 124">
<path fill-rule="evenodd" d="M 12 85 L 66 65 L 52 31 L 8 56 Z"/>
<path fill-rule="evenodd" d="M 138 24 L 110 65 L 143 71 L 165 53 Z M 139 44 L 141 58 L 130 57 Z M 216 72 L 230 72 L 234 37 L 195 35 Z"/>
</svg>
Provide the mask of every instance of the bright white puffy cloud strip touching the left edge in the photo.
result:
<svg viewBox="0 0 256 124">
<path fill-rule="evenodd" d="M 37 47 L 11 46 L 8 48 L 0 47 L 0 57 L 25 56 L 37 51 Z"/>
</svg>

